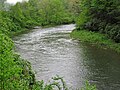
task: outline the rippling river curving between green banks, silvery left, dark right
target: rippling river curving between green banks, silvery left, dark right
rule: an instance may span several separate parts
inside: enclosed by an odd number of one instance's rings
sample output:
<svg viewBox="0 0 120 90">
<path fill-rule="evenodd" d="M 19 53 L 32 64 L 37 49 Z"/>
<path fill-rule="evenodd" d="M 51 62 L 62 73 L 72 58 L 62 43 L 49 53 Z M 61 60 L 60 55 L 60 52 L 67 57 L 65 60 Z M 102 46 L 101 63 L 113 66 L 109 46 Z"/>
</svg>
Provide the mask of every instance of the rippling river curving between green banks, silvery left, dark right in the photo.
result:
<svg viewBox="0 0 120 90">
<path fill-rule="evenodd" d="M 37 80 L 49 82 L 56 75 L 67 85 L 98 90 L 120 90 L 120 54 L 70 38 L 74 24 L 33 29 L 14 37 L 16 51 L 31 62 Z"/>
</svg>

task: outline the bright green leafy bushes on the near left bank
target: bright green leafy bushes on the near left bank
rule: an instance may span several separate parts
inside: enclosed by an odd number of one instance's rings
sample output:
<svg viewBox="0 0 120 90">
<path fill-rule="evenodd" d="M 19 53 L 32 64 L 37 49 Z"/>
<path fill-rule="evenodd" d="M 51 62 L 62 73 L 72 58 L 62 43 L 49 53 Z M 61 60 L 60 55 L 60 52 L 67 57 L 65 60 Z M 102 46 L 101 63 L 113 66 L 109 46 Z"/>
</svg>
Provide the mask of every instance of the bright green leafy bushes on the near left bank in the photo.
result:
<svg viewBox="0 0 120 90">
<path fill-rule="evenodd" d="M 28 90 L 34 81 L 30 64 L 12 50 L 13 42 L 0 33 L 0 90 Z"/>
</svg>

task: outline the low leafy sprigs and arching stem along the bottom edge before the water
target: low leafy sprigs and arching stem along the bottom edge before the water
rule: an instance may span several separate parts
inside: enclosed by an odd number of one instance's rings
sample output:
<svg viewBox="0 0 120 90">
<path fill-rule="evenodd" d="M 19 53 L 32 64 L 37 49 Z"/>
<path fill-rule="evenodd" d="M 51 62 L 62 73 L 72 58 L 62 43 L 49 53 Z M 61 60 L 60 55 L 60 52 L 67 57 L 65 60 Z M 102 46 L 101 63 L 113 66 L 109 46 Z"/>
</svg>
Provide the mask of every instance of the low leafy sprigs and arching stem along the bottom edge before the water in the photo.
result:
<svg viewBox="0 0 120 90">
<path fill-rule="evenodd" d="M 52 78 L 52 82 L 49 84 L 45 84 L 44 81 L 37 82 L 32 90 L 74 90 L 69 88 L 66 85 L 66 82 L 64 81 L 63 77 L 56 76 Z M 75 89 L 75 90 L 97 90 L 95 85 L 91 85 L 88 81 L 86 81 L 85 86 L 81 89 Z"/>
</svg>

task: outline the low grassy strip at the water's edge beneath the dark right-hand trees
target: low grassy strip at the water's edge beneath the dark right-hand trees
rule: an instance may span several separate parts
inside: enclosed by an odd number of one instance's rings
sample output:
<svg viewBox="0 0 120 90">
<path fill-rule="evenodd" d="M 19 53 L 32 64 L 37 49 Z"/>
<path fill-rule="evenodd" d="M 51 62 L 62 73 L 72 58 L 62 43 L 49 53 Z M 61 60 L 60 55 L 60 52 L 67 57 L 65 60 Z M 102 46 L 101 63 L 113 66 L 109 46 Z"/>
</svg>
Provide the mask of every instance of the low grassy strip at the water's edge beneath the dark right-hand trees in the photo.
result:
<svg viewBox="0 0 120 90">
<path fill-rule="evenodd" d="M 70 36 L 74 39 L 80 40 L 82 42 L 89 42 L 92 44 L 97 44 L 99 46 L 110 48 L 120 53 L 120 43 L 115 43 L 111 39 L 107 38 L 106 35 L 95 33 L 86 30 L 74 30 Z"/>
</svg>

